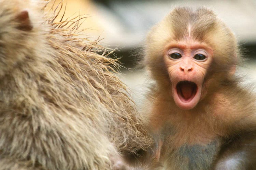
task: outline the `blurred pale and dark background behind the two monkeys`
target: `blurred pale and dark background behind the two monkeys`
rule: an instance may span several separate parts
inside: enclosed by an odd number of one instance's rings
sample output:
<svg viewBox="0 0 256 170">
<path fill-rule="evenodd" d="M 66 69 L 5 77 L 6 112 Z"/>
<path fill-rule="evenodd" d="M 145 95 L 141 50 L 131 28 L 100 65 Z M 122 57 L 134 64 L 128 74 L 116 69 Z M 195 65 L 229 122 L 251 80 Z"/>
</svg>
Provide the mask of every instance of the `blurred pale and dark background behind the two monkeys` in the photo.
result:
<svg viewBox="0 0 256 170">
<path fill-rule="evenodd" d="M 61 0 L 56 0 L 56 3 Z M 141 70 L 134 69 L 134 51 L 141 51 L 150 28 L 174 6 L 206 6 L 212 8 L 238 37 L 249 60 L 238 68 L 247 74 L 248 82 L 256 82 L 256 0 L 68 0 L 66 17 L 88 16 L 81 25 L 91 40 L 104 38 L 101 44 L 117 48 L 115 56 L 128 69 L 122 69 L 122 80 L 139 94 L 147 84 Z M 137 54 L 138 55 L 138 54 Z M 138 100 L 137 96 L 134 96 Z"/>
</svg>

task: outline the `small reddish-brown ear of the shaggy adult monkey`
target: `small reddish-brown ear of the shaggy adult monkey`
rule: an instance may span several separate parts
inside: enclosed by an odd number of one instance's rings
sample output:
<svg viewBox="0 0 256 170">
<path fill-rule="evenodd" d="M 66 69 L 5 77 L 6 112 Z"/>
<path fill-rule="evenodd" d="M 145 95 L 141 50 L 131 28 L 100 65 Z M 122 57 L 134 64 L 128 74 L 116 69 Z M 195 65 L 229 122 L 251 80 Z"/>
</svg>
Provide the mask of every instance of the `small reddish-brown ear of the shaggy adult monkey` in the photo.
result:
<svg viewBox="0 0 256 170">
<path fill-rule="evenodd" d="M 22 31 L 31 31 L 33 26 L 30 22 L 28 11 L 24 10 L 16 16 L 16 20 L 19 22 L 17 29 Z"/>
</svg>

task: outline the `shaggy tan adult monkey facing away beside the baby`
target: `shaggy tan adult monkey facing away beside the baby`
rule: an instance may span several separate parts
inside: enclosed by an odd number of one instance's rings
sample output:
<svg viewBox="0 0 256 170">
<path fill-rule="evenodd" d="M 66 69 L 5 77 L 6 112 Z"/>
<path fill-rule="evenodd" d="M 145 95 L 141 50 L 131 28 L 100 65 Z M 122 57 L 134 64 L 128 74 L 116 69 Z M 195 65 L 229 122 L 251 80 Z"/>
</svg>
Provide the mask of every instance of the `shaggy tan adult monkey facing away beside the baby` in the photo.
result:
<svg viewBox="0 0 256 170">
<path fill-rule="evenodd" d="M 151 138 L 115 61 L 76 37 L 82 17 L 43 18 L 45 1 L 0 6 L 0 169 L 128 168 L 123 153 Z"/>
</svg>

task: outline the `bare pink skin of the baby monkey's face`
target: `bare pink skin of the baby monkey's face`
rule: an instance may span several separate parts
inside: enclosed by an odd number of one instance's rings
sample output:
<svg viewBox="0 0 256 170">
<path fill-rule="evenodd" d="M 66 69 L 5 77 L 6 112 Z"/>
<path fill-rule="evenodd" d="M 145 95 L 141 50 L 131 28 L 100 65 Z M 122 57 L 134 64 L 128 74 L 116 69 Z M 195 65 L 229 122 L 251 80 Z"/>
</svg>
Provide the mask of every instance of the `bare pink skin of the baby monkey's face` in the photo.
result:
<svg viewBox="0 0 256 170">
<path fill-rule="evenodd" d="M 181 57 L 174 59 L 170 57 L 172 53 L 179 53 Z M 203 54 L 204 60 L 196 60 L 196 54 Z M 164 61 L 167 66 L 170 81 L 172 82 L 172 97 L 177 106 L 181 109 L 189 110 L 194 108 L 201 99 L 203 80 L 206 71 L 212 61 L 212 50 L 205 44 L 185 41 L 168 46 Z M 192 88 L 177 88 L 180 81 L 190 81 L 196 84 L 196 90 L 191 92 Z M 180 86 L 184 87 L 184 86 Z M 188 89 L 188 90 L 186 90 Z M 188 91 L 187 99 L 181 94 L 181 91 Z"/>
</svg>

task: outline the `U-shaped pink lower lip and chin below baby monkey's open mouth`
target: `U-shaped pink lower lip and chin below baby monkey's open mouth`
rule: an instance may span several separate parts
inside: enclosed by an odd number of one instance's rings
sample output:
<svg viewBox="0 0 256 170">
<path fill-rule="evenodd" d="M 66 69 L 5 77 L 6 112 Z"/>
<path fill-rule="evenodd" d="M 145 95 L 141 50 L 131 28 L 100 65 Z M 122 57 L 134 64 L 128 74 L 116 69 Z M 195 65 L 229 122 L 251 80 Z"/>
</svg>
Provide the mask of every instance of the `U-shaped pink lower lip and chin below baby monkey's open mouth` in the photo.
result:
<svg viewBox="0 0 256 170">
<path fill-rule="evenodd" d="M 198 87 L 195 96 L 191 100 L 186 101 L 186 100 L 182 99 L 182 97 L 180 97 L 180 95 L 178 94 L 177 89 L 175 87 L 172 87 L 172 96 L 173 96 L 175 104 L 178 107 L 180 107 L 181 109 L 183 109 L 183 110 L 193 109 L 200 100 L 201 87 Z"/>
</svg>

